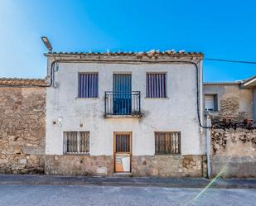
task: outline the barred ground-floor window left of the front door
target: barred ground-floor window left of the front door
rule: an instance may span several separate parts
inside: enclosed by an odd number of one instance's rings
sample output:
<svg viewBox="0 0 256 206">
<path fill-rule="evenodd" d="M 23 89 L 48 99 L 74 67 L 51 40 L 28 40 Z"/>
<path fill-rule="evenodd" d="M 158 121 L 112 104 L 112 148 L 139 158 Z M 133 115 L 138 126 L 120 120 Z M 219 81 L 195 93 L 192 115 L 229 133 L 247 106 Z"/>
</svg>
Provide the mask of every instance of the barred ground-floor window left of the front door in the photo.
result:
<svg viewBox="0 0 256 206">
<path fill-rule="evenodd" d="M 89 153 L 89 132 L 64 132 L 64 154 Z"/>
</svg>

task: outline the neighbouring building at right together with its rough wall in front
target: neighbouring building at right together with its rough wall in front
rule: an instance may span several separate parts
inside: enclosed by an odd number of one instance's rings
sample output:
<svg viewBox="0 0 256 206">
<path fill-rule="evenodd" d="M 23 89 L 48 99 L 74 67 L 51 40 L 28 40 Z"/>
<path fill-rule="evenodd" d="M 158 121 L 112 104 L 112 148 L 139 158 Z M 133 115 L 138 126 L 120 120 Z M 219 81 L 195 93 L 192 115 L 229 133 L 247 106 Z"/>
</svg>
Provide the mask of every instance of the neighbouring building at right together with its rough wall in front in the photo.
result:
<svg viewBox="0 0 256 206">
<path fill-rule="evenodd" d="M 235 82 L 205 83 L 204 94 L 205 113 L 210 114 L 215 126 L 210 130 L 212 175 L 225 171 L 225 177 L 255 178 L 256 76 Z M 254 122 L 254 127 L 248 122 Z"/>
</svg>

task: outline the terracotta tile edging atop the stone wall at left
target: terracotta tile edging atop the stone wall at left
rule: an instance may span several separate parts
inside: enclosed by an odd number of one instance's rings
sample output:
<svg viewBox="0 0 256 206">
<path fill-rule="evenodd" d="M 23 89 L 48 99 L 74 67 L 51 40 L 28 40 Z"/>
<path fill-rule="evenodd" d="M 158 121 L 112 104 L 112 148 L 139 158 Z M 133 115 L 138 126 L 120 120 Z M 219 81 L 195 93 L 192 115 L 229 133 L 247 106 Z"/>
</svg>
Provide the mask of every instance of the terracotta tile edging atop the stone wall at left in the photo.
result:
<svg viewBox="0 0 256 206">
<path fill-rule="evenodd" d="M 0 78 L 0 86 L 44 86 L 46 79 Z"/>
</svg>

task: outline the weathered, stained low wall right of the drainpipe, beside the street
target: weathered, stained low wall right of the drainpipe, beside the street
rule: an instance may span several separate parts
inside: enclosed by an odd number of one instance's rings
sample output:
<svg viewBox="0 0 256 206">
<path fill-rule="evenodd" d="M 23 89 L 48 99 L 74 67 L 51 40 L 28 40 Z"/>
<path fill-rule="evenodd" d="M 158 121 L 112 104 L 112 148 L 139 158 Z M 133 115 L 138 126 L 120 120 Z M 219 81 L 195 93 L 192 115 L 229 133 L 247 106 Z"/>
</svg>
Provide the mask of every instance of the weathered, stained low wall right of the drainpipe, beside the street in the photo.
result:
<svg viewBox="0 0 256 206">
<path fill-rule="evenodd" d="M 256 177 L 256 130 L 211 131 L 212 173 L 224 177 Z"/>
</svg>

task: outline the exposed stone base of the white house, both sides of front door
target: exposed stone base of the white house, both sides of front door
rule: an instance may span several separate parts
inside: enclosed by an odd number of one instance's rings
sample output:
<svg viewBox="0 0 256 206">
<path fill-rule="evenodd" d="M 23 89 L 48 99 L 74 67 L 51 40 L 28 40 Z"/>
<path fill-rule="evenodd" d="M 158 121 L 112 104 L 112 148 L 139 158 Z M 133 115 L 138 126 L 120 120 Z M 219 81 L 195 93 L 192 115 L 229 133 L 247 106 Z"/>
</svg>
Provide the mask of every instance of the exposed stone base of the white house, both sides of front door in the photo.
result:
<svg viewBox="0 0 256 206">
<path fill-rule="evenodd" d="M 113 175 L 113 156 L 46 156 L 46 175 Z M 204 156 L 133 156 L 134 176 L 202 177 Z"/>
</svg>

